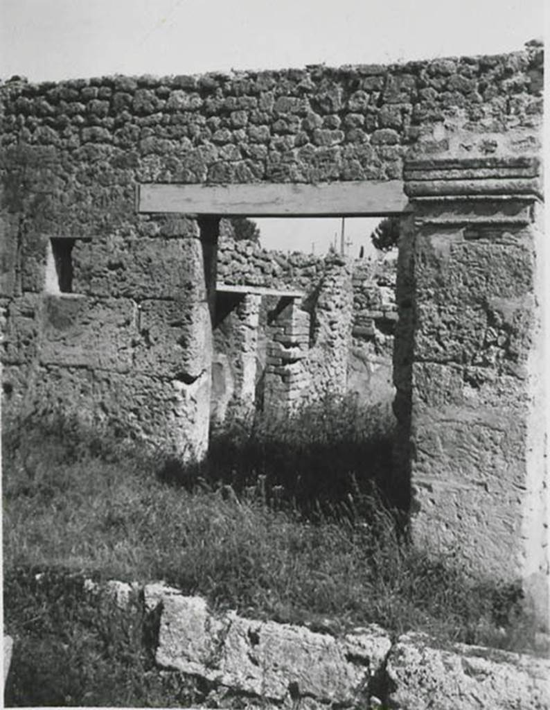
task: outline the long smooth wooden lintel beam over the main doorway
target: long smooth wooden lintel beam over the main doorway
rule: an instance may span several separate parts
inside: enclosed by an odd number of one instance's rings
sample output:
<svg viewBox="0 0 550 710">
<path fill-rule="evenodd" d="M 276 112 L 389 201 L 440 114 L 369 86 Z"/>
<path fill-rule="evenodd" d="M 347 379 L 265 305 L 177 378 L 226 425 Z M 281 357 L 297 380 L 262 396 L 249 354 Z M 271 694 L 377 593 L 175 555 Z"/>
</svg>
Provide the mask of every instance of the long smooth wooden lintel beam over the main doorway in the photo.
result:
<svg viewBox="0 0 550 710">
<path fill-rule="evenodd" d="M 319 185 L 254 182 L 247 185 L 138 186 L 138 212 L 246 217 L 382 217 L 407 207 L 402 180 L 326 182 Z"/>
</svg>

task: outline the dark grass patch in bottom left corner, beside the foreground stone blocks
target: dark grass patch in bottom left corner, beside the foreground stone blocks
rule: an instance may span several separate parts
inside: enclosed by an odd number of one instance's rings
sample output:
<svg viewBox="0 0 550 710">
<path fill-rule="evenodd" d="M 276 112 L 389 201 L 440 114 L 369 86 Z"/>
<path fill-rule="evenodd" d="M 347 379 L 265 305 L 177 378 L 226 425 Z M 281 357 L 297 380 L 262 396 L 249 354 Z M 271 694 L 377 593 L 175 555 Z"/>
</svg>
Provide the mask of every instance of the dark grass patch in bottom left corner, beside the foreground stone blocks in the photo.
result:
<svg viewBox="0 0 550 710">
<path fill-rule="evenodd" d="M 209 688 L 155 669 L 153 629 L 138 599 L 121 611 L 57 570 L 11 570 L 4 586 L 16 636 L 8 706 L 189 707 Z"/>
</svg>

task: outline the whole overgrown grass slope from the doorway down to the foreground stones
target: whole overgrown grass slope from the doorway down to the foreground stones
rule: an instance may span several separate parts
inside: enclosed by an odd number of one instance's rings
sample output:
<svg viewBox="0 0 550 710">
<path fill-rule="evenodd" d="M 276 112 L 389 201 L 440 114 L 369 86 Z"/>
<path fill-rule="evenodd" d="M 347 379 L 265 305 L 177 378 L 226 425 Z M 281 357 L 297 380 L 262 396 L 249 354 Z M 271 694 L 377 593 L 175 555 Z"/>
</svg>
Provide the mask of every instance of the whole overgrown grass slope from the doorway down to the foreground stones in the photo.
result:
<svg viewBox="0 0 550 710">
<path fill-rule="evenodd" d="M 165 579 L 215 606 L 334 633 L 377 622 L 529 648 L 536 629 L 518 589 L 407 545 L 386 507 L 388 437 L 352 403 L 327 401 L 295 420 L 219 432 L 209 464 L 185 470 L 72 420 L 6 427 L 4 603 L 8 631 L 23 639 L 15 677 L 21 686 L 40 674 L 40 658 L 67 667 L 60 682 L 43 670 L 40 687 L 57 688 L 48 702 L 16 690 L 13 702 L 129 705 L 141 693 L 143 704 L 177 704 L 150 674 L 137 609 L 133 621 L 112 609 L 94 617 L 70 585 L 40 591 L 37 569 Z M 108 670 L 116 696 L 99 690 Z"/>
</svg>

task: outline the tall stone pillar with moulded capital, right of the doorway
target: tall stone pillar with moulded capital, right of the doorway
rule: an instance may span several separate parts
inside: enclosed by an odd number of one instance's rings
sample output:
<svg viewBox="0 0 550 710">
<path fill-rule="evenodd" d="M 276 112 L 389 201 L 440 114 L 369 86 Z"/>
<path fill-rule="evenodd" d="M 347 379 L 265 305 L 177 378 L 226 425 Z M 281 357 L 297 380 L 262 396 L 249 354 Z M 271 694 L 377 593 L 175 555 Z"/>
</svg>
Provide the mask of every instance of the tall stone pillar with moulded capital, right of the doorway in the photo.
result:
<svg viewBox="0 0 550 710">
<path fill-rule="evenodd" d="M 547 614 L 541 188 L 530 158 L 405 167 L 396 413 L 412 537 Z"/>
</svg>

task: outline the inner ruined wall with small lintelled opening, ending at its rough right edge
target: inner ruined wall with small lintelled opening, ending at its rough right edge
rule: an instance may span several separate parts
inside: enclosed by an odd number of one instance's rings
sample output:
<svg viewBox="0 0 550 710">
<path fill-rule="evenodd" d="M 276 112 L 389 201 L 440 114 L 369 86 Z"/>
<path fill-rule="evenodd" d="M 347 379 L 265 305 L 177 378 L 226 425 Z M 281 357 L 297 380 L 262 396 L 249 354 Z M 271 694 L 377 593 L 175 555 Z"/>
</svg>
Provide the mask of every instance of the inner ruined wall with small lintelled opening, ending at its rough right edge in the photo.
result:
<svg viewBox="0 0 550 710">
<path fill-rule="evenodd" d="M 352 319 L 347 259 L 270 251 L 222 236 L 217 274 L 214 421 L 223 421 L 230 412 L 252 415 L 256 408 L 277 410 L 326 392 L 346 391 Z M 222 283 L 250 287 L 250 293 L 224 293 Z M 279 289 L 280 294 L 254 295 L 257 287 Z M 293 289 L 302 296 L 285 295 Z M 254 327 L 257 334 L 245 344 L 243 333 Z M 256 360 L 254 376 L 247 382 L 242 376 L 245 350 Z"/>
</svg>

